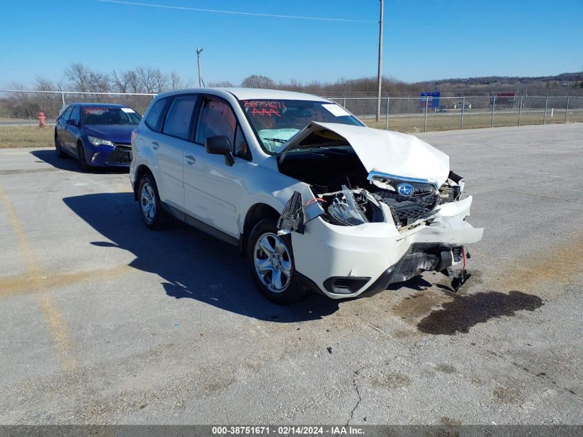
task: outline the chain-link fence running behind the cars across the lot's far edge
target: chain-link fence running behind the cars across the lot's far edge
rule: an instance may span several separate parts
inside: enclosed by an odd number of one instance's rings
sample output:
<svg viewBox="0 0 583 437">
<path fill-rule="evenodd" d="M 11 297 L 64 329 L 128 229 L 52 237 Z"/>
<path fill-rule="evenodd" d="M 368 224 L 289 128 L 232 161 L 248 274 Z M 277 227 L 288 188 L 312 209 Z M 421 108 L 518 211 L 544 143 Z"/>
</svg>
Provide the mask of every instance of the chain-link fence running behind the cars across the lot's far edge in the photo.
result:
<svg viewBox="0 0 583 437">
<path fill-rule="evenodd" d="M 123 104 L 143 114 L 155 94 L 0 90 L 0 148 L 48 147 L 59 113 L 71 103 Z M 583 122 L 583 96 L 328 97 L 370 127 L 404 133 Z M 47 126 L 39 127 L 39 113 Z"/>
</svg>

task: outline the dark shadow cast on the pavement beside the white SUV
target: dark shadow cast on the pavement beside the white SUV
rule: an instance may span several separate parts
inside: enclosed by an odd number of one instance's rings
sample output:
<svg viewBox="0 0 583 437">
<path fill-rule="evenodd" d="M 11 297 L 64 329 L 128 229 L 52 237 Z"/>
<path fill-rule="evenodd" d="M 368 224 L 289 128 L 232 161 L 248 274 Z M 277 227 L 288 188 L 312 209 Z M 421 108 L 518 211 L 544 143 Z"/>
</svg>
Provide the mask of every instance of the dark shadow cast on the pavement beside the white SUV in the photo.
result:
<svg viewBox="0 0 583 437">
<path fill-rule="evenodd" d="M 237 247 L 177 221 L 164 231 L 150 231 L 132 193 L 88 194 L 63 202 L 103 235 L 91 244 L 133 253 L 130 266 L 159 275 L 169 298 L 195 299 L 271 322 L 317 320 L 338 309 L 337 300 L 317 294 L 288 307 L 269 302 L 255 289 Z"/>
</svg>

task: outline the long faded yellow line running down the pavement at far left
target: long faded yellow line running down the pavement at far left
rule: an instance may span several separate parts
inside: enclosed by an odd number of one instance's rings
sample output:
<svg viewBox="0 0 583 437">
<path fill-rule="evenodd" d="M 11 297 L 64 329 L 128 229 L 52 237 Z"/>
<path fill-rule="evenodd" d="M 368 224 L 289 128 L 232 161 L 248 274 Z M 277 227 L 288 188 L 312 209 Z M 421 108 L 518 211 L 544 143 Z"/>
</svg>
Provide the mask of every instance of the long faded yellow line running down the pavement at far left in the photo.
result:
<svg viewBox="0 0 583 437">
<path fill-rule="evenodd" d="M 41 277 L 41 266 L 37 262 L 37 258 L 34 256 L 28 238 L 26 237 L 26 232 L 22 226 L 20 220 L 18 219 L 16 213 L 14 212 L 14 206 L 12 202 L 6 195 L 6 192 L 0 184 L 0 201 L 4 204 L 6 208 L 6 213 L 8 215 L 8 221 L 10 226 L 12 226 L 12 231 L 17 237 L 19 249 L 23 253 L 28 267 L 28 275 L 34 278 L 32 282 L 32 288 L 39 289 L 41 283 L 38 278 Z M 52 295 L 48 293 L 37 294 L 37 302 L 43 313 L 43 318 L 45 320 L 48 332 L 55 344 L 55 351 L 57 351 L 57 356 L 61 364 L 61 369 L 66 373 L 75 371 L 79 367 L 79 361 L 76 358 L 75 344 L 73 344 L 70 331 L 67 327 L 65 320 L 63 319 L 63 314 L 59 309 L 59 304 L 57 300 Z"/>
</svg>

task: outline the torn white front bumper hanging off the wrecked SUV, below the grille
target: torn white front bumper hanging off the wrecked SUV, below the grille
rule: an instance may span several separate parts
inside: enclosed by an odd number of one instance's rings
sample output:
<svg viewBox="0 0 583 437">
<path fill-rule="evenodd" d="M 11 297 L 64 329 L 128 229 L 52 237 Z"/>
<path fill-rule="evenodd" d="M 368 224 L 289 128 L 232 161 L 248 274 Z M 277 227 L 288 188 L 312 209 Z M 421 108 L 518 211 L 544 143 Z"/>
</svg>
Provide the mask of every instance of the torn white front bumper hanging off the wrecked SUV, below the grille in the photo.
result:
<svg viewBox="0 0 583 437">
<path fill-rule="evenodd" d="M 470 196 L 439 205 L 405 229 L 388 221 L 337 226 L 316 217 L 303 233 L 291 233 L 295 268 L 335 299 L 382 291 L 423 271 L 446 271 L 460 264 L 466 244 L 482 239 L 484 230 L 465 222 L 471 202 Z"/>
</svg>

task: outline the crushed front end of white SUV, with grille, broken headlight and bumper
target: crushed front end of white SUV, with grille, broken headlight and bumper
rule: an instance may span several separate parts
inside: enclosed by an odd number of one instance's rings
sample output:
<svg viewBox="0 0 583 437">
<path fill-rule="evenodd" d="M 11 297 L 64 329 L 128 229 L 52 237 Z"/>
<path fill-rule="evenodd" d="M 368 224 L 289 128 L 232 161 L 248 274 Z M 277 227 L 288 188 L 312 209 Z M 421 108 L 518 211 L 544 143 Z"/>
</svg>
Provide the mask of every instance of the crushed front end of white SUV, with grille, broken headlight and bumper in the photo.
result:
<svg viewBox="0 0 583 437">
<path fill-rule="evenodd" d="M 295 193 L 279 228 L 291 233 L 297 271 L 330 298 L 382 291 L 424 271 L 451 276 L 457 291 L 468 276 L 466 245 L 483 233 L 465 221 L 472 197 L 460 200 L 463 179 L 450 173 L 439 187 L 379 174 L 369 180 L 370 191 L 342 186 L 307 202 Z"/>
</svg>

